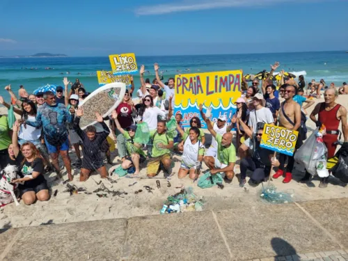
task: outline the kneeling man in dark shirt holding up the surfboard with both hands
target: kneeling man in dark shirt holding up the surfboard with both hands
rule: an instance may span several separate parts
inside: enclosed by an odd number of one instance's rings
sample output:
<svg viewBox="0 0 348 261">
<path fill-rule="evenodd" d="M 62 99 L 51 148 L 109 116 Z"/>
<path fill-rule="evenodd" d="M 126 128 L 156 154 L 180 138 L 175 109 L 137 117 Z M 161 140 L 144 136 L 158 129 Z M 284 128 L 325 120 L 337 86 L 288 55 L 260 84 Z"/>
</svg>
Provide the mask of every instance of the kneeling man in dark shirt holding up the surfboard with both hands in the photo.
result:
<svg viewBox="0 0 348 261">
<path fill-rule="evenodd" d="M 104 132 L 97 134 L 97 129 L 93 125 L 87 126 L 84 132 L 79 126 L 80 118 L 84 116 L 84 110 L 81 108 L 77 109 L 76 116 L 74 120 L 74 129 L 82 140 L 82 152 L 84 153 L 80 172 L 80 182 L 88 180 L 90 173 L 93 171 L 98 171 L 100 177 L 106 178 L 108 173 L 100 154 L 100 149 L 102 143 L 106 140 L 107 136 L 109 136 L 109 127 L 105 124 L 102 116 L 99 113 L 95 113 L 96 120 L 100 122 Z"/>
</svg>

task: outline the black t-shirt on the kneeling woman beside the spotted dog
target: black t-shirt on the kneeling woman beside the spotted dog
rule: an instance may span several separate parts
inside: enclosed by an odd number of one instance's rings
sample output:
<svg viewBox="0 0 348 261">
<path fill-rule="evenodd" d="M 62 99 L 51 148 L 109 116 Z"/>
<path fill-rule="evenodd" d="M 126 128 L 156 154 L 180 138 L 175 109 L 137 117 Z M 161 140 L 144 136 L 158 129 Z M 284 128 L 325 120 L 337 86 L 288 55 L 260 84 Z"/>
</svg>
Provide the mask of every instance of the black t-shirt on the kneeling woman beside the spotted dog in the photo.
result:
<svg viewBox="0 0 348 261">
<path fill-rule="evenodd" d="M 45 177 L 43 176 L 44 168 L 45 168 L 45 166 L 42 162 L 42 159 L 40 159 L 40 158 L 36 158 L 32 162 L 28 162 L 25 160 L 24 164 L 22 164 L 22 166 L 21 166 L 20 175 L 22 177 L 26 177 L 26 175 L 33 175 L 33 172 L 38 172 L 38 173 L 40 173 L 40 175 L 38 175 L 38 177 L 36 177 L 33 180 L 29 180 L 29 181 L 24 182 L 23 186 L 27 187 L 27 188 L 35 188 L 36 186 L 38 186 L 42 182 L 46 182 Z"/>
</svg>

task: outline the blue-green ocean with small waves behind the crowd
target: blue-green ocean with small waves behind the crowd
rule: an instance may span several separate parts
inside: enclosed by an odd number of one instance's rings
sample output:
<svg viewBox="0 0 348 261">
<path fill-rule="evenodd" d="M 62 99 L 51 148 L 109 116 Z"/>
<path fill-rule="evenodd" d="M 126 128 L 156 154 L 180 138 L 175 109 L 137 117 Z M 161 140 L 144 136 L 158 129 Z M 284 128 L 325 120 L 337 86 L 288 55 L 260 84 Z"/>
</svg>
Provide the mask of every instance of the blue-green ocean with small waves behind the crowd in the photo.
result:
<svg viewBox="0 0 348 261">
<path fill-rule="evenodd" d="M 164 81 L 175 74 L 216 72 L 242 69 L 244 74 L 256 74 L 269 70 L 269 65 L 280 62 L 278 70 L 296 75 L 303 74 L 307 82 L 324 79 L 341 86 L 348 81 L 348 53 L 298 52 L 274 54 L 223 54 L 195 56 L 136 56 L 138 67 L 145 65 L 145 78 L 155 78 L 153 64 L 159 63 Z M 52 68 L 52 70 L 45 70 Z M 189 69 L 189 71 L 188 71 Z M 3 88 L 11 84 L 17 94 L 19 85 L 28 93 L 46 84 L 63 85 L 63 77 L 72 82 L 80 79 L 88 92 L 98 88 L 97 70 L 111 70 L 109 57 L 62 57 L 62 58 L 0 58 L 0 95 L 8 100 Z M 67 73 L 69 72 L 69 73 Z M 63 74 L 61 74 L 63 73 Z M 134 75 L 136 90 L 140 86 L 139 74 Z"/>
</svg>

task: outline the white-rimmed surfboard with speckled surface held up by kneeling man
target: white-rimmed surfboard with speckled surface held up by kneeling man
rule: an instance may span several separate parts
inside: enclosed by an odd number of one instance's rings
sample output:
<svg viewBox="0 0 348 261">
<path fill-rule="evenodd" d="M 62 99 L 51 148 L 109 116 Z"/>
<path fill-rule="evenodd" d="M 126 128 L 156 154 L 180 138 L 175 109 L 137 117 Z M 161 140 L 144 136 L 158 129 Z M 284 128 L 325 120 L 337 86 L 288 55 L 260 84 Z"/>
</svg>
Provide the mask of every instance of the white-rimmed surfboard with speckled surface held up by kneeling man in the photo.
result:
<svg viewBox="0 0 348 261">
<path fill-rule="evenodd" d="M 100 113 L 103 117 L 109 116 L 111 112 L 117 108 L 125 96 L 126 85 L 124 83 L 115 82 L 106 84 L 93 93 L 90 93 L 83 100 L 79 107 L 84 109 L 84 116 L 80 119 L 81 129 L 85 129 L 89 125 L 97 123 L 95 113 Z"/>
</svg>

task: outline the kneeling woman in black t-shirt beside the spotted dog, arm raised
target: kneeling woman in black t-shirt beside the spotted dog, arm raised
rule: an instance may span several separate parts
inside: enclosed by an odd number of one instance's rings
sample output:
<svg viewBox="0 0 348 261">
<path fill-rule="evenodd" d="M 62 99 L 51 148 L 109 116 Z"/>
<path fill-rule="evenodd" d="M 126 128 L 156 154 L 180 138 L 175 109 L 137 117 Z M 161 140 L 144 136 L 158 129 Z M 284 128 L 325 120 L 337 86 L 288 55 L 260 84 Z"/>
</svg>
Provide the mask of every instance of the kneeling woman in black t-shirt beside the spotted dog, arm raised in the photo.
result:
<svg viewBox="0 0 348 261">
<path fill-rule="evenodd" d="M 13 143 L 10 159 L 16 166 L 19 164 L 19 175 L 21 177 L 11 182 L 19 183 L 19 196 L 25 205 L 31 205 L 36 200 L 47 201 L 49 200 L 49 188 L 43 175 L 45 165 L 40 157 L 40 152 L 30 142 L 23 143 L 19 150 L 19 144 L 17 142 L 18 129 L 19 123 L 15 122 L 13 126 Z"/>
</svg>

